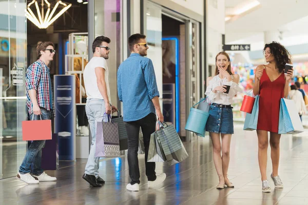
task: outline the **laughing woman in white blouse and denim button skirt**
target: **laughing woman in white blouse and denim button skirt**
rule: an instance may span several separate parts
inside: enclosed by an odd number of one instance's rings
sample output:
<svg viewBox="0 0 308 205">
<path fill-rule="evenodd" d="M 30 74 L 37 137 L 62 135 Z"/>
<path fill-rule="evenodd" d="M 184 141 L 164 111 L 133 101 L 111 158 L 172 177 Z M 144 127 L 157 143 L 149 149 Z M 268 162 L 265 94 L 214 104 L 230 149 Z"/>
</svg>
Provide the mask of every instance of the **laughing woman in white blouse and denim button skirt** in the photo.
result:
<svg viewBox="0 0 308 205">
<path fill-rule="evenodd" d="M 227 177 L 230 161 L 230 142 L 233 128 L 233 97 L 241 88 L 238 86 L 239 75 L 233 74 L 230 57 L 226 52 L 216 56 L 216 71 L 214 77 L 207 78 L 206 96 L 211 104 L 206 131 L 209 132 L 213 144 L 213 160 L 219 177 L 217 189 L 234 187 Z M 230 86 L 226 94 L 227 86 Z M 220 135 L 222 143 L 220 143 Z M 221 155 L 222 151 L 222 155 Z"/>
</svg>

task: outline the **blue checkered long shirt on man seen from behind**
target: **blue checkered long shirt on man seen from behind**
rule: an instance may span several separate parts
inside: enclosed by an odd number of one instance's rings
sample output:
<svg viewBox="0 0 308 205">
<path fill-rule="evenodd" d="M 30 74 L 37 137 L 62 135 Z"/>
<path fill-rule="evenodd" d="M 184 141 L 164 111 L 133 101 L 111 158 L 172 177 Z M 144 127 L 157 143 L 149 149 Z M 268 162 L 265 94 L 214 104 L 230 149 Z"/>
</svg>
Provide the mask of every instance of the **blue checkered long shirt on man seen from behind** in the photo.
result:
<svg viewBox="0 0 308 205">
<path fill-rule="evenodd" d="M 159 96 L 152 60 L 132 53 L 118 70 L 118 95 L 124 121 L 136 121 L 156 113 L 151 99 Z"/>
</svg>

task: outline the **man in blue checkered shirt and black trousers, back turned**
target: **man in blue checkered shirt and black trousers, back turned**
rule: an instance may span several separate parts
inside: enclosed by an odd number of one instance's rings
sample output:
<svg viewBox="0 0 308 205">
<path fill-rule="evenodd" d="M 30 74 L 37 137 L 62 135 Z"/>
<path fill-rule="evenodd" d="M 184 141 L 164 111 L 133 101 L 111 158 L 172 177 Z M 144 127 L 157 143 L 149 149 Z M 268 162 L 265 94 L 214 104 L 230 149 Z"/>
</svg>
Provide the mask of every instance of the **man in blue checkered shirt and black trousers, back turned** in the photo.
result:
<svg viewBox="0 0 308 205">
<path fill-rule="evenodd" d="M 118 70 L 118 95 L 123 102 L 123 118 L 128 135 L 128 166 L 131 182 L 127 190 L 139 191 L 140 172 L 138 163 L 139 130 L 143 133 L 145 168 L 148 187 L 159 186 L 166 174 L 157 175 L 155 162 L 147 162 L 150 135 L 155 132 L 156 114 L 164 121 L 159 104 L 159 92 L 154 67 L 147 55 L 145 35 L 133 34 L 128 38 L 131 55 Z M 155 114 L 156 113 L 156 114 Z"/>
</svg>

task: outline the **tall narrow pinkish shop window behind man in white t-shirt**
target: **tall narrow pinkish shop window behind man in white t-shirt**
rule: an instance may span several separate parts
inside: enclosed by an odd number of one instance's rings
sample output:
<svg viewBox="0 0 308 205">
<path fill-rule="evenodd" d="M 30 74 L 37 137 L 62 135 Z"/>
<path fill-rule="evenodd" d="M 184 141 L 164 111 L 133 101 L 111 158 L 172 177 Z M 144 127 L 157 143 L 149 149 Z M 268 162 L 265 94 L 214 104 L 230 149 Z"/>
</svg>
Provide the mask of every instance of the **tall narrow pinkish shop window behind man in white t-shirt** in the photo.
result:
<svg viewBox="0 0 308 205">
<path fill-rule="evenodd" d="M 117 70 L 123 57 L 122 29 L 122 0 L 95 0 L 94 1 L 94 31 L 95 37 L 104 35 L 111 39 L 110 54 L 107 60 L 109 69 L 109 86 L 111 103 L 117 106 Z"/>
</svg>

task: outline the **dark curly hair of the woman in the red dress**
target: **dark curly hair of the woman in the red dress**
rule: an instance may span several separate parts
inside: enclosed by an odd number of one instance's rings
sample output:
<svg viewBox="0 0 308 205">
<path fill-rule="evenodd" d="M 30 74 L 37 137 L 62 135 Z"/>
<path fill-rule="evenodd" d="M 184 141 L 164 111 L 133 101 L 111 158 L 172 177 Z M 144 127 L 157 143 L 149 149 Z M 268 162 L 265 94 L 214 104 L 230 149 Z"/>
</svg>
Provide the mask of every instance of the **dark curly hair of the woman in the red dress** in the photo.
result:
<svg viewBox="0 0 308 205">
<path fill-rule="evenodd" d="M 271 49 L 271 54 L 276 60 L 276 64 L 280 73 L 283 72 L 285 64 L 292 64 L 290 52 L 288 52 L 288 50 L 284 48 L 284 46 L 282 46 L 280 43 L 272 42 L 270 44 L 265 44 L 263 53 L 265 53 L 266 48 Z"/>
</svg>

